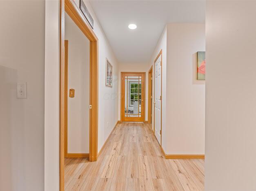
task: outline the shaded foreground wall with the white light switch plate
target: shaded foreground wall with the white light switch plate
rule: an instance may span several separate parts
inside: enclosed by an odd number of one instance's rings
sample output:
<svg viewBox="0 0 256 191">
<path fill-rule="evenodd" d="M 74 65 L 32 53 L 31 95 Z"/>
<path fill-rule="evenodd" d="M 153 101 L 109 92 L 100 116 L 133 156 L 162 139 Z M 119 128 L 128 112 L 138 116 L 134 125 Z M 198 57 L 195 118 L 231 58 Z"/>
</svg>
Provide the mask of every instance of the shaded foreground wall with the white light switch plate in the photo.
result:
<svg viewBox="0 0 256 191">
<path fill-rule="evenodd" d="M 0 190 L 42 191 L 45 2 L 0 1 L 0 26 Z"/>
</svg>

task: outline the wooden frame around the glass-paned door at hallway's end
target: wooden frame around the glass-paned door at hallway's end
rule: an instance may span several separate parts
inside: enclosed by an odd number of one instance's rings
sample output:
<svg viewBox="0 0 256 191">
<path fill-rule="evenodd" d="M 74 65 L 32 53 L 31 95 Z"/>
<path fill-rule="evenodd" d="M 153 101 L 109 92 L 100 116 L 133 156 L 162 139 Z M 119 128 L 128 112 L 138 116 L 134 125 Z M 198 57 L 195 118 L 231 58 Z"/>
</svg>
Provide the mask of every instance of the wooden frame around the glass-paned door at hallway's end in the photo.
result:
<svg viewBox="0 0 256 191">
<path fill-rule="evenodd" d="M 144 91 L 144 93 L 143 93 L 143 97 L 141 97 L 141 99 L 143 99 L 143 106 L 144 107 L 143 107 L 143 113 L 141 114 L 141 116 L 142 116 L 142 122 L 145 122 L 145 77 L 146 77 L 146 72 L 121 72 L 121 101 L 120 101 L 120 115 L 121 115 L 120 119 L 121 119 L 121 122 L 125 121 L 124 117 L 122 116 L 122 111 L 125 110 L 125 107 L 123 107 L 124 103 L 125 103 L 124 102 L 125 97 L 123 98 L 123 94 L 125 93 L 124 92 L 125 88 L 122 84 L 122 81 L 123 81 L 122 79 L 125 75 L 128 75 L 128 74 L 133 74 L 133 75 L 137 75 L 137 76 L 143 75 L 143 77 L 144 77 L 144 80 L 143 80 L 144 81 L 143 82 L 143 91 Z M 134 120 L 134 121 L 137 121 L 137 120 Z"/>
</svg>

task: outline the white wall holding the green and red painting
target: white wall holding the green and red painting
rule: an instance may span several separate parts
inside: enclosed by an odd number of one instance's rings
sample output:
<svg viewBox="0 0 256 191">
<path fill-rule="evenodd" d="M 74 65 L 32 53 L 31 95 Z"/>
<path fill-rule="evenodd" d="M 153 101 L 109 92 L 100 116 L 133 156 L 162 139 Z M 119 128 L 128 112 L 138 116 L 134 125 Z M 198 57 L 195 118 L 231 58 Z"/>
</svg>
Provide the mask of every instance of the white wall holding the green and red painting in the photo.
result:
<svg viewBox="0 0 256 191">
<path fill-rule="evenodd" d="M 205 153 L 205 81 L 196 80 L 197 51 L 205 51 L 205 24 L 167 24 L 167 154 Z"/>
</svg>

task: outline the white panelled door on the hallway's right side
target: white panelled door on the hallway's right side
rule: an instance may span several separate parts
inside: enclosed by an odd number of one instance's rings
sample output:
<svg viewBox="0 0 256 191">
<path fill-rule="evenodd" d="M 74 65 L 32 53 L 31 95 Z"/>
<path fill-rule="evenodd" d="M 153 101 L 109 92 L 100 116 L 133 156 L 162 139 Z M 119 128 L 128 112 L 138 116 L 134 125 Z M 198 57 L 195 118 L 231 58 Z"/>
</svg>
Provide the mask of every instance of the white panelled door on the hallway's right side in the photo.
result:
<svg viewBox="0 0 256 191">
<path fill-rule="evenodd" d="M 161 144 L 161 56 L 155 62 L 155 96 L 154 96 L 154 105 L 155 105 L 155 114 L 154 114 L 154 123 L 155 123 L 155 136 Z"/>
</svg>

